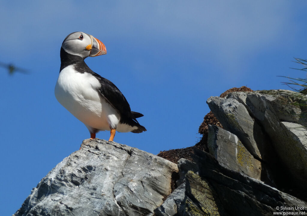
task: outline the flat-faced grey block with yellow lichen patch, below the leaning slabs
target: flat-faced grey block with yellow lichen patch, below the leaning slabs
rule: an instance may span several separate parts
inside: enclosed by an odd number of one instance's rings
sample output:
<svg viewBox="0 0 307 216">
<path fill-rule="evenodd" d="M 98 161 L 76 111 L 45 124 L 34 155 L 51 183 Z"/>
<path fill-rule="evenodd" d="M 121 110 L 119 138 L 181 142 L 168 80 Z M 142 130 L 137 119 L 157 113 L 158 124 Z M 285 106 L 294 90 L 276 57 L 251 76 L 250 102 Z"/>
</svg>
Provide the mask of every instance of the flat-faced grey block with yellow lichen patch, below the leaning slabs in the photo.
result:
<svg viewBox="0 0 307 216">
<path fill-rule="evenodd" d="M 235 134 L 209 125 L 208 148 L 220 165 L 252 178 L 261 179 L 261 163 L 242 145 Z"/>
</svg>

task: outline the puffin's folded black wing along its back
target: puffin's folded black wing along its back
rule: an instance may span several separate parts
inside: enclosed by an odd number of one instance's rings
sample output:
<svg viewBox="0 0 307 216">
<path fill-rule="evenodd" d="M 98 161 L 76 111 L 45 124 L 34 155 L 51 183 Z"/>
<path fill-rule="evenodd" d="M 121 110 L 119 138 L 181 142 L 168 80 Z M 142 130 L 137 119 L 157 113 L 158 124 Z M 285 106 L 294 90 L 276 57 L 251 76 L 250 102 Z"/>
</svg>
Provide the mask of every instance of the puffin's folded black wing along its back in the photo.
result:
<svg viewBox="0 0 307 216">
<path fill-rule="evenodd" d="M 137 112 L 131 112 L 130 105 L 127 102 L 125 96 L 110 80 L 101 77 L 99 74 L 93 74 L 100 82 L 101 87 L 98 89 L 99 93 L 109 102 L 120 115 L 132 118 L 138 122 L 136 118 L 141 117 L 142 114 Z"/>
</svg>

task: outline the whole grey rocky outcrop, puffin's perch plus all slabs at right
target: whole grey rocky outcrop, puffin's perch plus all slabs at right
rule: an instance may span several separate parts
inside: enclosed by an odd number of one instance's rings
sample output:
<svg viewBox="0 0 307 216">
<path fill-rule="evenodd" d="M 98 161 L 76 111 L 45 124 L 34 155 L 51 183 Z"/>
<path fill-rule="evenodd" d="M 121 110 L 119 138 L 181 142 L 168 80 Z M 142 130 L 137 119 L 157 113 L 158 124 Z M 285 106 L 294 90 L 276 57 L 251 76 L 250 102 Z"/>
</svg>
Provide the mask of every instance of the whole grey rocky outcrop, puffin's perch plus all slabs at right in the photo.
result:
<svg viewBox="0 0 307 216">
<path fill-rule="evenodd" d="M 193 161 L 85 140 L 14 216 L 307 214 L 307 96 L 232 92 L 207 103 L 224 129 L 208 126 L 209 150 L 193 149 Z"/>
</svg>

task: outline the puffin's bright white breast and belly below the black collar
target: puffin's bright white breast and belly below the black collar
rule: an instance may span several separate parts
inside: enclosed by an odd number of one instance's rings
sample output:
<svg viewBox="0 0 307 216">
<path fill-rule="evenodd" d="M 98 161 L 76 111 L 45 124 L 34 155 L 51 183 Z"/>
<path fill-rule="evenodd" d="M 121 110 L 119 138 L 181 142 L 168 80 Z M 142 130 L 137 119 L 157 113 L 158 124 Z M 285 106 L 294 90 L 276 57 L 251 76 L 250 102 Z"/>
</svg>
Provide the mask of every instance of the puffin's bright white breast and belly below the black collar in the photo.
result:
<svg viewBox="0 0 307 216">
<path fill-rule="evenodd" d="M 110 126 L 117 127 L 119 114 L 100 95 L 100 86 L 93 75 L 79 73 L 69 65 L 60 72 L 54 93 L 60 104 L 85 125 L 110 130 Z"/>
</svg>

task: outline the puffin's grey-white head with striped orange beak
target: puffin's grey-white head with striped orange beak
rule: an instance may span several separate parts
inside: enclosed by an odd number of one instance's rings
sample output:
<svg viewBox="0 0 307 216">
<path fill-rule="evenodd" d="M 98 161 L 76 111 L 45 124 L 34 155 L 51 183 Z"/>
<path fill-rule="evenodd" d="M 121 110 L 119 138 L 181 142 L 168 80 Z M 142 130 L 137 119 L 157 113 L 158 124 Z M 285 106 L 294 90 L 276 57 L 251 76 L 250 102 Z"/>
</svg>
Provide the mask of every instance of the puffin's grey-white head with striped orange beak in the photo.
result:
<svg viewBox="0 0 307 216">
<path fill-rule="evenodd" d="M 69 54 L 86 58 L 107 54 L 105 45 L 95 37 L 84 32 L 70 33 L 62 43 Z"/>
</svg>

